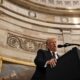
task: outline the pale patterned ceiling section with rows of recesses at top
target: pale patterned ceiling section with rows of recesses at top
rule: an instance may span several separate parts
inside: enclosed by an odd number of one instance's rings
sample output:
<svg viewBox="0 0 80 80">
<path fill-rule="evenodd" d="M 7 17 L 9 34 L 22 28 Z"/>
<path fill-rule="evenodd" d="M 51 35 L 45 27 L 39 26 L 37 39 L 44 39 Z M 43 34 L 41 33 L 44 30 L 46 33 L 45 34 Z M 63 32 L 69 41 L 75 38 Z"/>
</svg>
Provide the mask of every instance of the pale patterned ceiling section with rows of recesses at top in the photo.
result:
<svg viewBox="0 0 80 80">
<path fill-rule="evenodd" d="M 45 5 L 53 8 L 80 8 L 80 0 L 29 0 L 36 4 Z"/>
</svg>

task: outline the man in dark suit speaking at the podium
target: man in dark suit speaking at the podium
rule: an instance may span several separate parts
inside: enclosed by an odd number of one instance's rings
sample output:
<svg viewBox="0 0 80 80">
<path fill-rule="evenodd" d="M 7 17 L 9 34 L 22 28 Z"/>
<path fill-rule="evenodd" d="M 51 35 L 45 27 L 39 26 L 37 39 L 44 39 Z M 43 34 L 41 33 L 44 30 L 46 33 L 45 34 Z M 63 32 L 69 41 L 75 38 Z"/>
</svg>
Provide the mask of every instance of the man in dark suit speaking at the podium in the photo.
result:
<svg viewBox="0 0 80 80">
<path fill-rule="evenodd" d="M 45 80 L 46 67 L 56 66 L 58 54 L 57 54 L 57 41 L 55 38 L 49 38 L 46 41 L 47 50 L 39 49 L 37 56 L 34 60 L 36 64 L 35 73 L 31 80 Z"/>
</svg>

